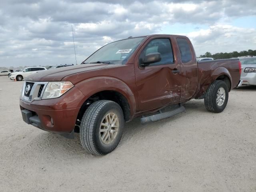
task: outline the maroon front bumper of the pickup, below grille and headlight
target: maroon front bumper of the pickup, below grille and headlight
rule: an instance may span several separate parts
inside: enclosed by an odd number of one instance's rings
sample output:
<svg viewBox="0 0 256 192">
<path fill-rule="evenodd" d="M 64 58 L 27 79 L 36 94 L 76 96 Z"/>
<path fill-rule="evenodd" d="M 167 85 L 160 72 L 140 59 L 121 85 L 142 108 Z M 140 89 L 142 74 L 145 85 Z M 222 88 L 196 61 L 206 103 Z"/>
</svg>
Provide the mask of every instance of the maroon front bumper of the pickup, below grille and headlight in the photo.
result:
<svg viewBox="0 0 256 192">
<path fill-rule="evenodd" d="M 59 98 L 32 102 L 20 98 L 20 110 L 27 124 L 52 133 L 70 134 L 75 128 L 83 99 L 82 92 L 74 87 Z"/>
</svg>

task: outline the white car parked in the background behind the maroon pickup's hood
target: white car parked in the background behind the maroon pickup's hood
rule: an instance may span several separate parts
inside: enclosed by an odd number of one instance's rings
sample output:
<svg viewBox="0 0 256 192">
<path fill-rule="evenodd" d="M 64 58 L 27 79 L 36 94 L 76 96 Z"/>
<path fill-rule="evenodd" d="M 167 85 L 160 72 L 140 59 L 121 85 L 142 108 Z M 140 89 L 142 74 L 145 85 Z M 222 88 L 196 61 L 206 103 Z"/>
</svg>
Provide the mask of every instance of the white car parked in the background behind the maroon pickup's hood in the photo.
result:
<svg viewBox="0 0 256 192">
<path fill-rule="evenodd" d="M 45 67 L 27 67 L 24 68 L 23 70 L 19 71 L 19 72 L 13 72 L 9 75 L 10 80 L 17 80 L 17 81 L 21 81 L 24 78 L 26 78 L 27 76 L 36 73 L 38 71 L 41 70 L 47 70 Z"/>
</svg>

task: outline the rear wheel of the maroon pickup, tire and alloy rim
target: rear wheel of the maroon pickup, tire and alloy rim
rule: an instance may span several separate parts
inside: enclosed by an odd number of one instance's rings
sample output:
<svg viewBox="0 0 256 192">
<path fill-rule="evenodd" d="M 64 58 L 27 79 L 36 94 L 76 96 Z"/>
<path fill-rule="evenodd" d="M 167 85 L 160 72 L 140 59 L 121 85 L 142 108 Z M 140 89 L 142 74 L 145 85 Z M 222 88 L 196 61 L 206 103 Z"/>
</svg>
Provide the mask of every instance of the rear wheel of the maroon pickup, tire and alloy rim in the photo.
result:
<svg viewBox="0 0 256 192">
<path fill-rule="evenodd" d="M 228 86 L 224 81 L 214 81 L 204 96 L 205 108 L 214 113 L 222 112 L 228 103 Z"/>
</svg>

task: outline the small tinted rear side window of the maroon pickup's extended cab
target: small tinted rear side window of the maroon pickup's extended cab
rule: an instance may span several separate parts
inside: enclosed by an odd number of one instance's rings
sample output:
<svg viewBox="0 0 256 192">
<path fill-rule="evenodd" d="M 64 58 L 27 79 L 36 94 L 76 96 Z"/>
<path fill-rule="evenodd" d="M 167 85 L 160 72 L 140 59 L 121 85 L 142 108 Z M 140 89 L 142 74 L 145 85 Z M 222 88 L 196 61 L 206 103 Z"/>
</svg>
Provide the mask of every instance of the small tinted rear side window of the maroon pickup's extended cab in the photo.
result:
<svg viewBox="0 0 256 192">
<path fill-rule="evenodd" d="M 189 62 L 192 60 L 192 52 L 190 50 L 190 44 L 184 38 L 177 38 L 180 56 L 183 63 Z"/>
</svg>

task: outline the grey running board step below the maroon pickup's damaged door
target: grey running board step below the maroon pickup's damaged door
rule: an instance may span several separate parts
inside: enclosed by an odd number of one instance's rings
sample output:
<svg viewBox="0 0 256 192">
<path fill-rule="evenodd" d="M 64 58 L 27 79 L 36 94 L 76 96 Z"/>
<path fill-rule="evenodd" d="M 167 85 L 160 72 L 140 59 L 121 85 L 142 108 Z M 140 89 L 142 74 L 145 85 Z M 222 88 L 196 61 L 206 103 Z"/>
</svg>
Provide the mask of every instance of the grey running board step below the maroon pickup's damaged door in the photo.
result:
<svg viewBox="0 0 256 192">
<path fill-rule="evenodd" d="M 171 111 L 167 111 L 167 112 L 161 112 L 161 110 L 158 111 L 158 114 L 155 115 L 151 115 L 151 116 L 142 116 L 142 118 L 140 119 L 140 123 L 144 124 L 147 122 L 153 122 L 153 121 L 158 121 L 161 119 L 165 119 L 168 117 L 172 117 L 174 115 L 180 114 L 182 112 L 186 112 L 184 106 L 180 106 L 179 108 L 176 108 L 174 110 Z"/>
</svg>

